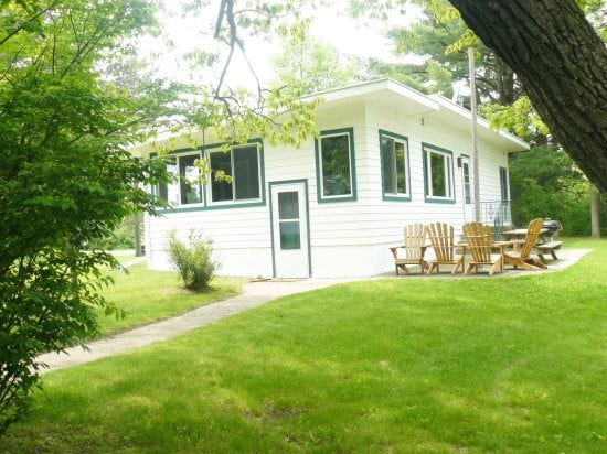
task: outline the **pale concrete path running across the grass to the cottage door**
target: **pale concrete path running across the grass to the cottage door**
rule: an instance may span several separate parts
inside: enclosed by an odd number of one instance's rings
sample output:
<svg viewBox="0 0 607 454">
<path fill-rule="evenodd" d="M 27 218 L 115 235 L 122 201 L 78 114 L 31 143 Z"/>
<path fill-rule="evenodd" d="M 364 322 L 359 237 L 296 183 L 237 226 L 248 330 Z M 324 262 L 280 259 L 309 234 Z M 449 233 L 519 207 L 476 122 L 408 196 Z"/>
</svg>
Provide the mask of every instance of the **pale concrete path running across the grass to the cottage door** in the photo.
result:
<svg viewBox="0 0 607 454">
<path fill-rule="evenodd" d="M 340 282 L 350 282 L 354 279 L 305 279 L 305 280 L 268 280 L 249 282 L 243 287 L 243 293 L 206 306 L 198 307 L 179 316 L 141 326 L 139 328 L 118 334 L 102 340 L 87 344 L 88 349 L 82 347 L 67 348 L 65 353 L 49 353 L 39 356 L 39 360 L 49 366 L 40 370 L 45 374 L 56 369 L 78 366 L 99 358 L 128 352 L 155 342 L 169 339 L 190 329 L 207 325 L 230 315 L 238 314 L 257 307 L 276 298 L 322 289 Z"/>
</svg>

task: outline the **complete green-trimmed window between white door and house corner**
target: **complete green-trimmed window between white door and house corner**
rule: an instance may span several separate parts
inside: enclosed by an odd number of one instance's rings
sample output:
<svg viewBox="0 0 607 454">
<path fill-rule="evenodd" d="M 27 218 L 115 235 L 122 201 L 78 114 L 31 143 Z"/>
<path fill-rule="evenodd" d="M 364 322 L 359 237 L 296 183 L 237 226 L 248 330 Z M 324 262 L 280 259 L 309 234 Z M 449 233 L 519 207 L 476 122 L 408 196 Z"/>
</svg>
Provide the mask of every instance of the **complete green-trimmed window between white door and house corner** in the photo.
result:
<svg viewBox="0 0 607 454">
<path fill-rule="evenodd" d="M 352 128 L 321 132 L 316 163 L 319 202 L 356 198 Z"/>
</svg>

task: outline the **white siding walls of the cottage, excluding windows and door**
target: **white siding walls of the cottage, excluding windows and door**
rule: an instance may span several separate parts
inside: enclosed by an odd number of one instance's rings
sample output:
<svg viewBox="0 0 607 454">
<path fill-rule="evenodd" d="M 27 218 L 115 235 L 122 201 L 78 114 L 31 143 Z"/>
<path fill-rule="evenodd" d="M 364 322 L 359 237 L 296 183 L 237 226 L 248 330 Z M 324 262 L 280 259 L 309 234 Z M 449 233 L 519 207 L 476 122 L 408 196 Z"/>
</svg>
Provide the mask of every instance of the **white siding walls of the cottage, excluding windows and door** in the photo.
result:
<svg viewBox="0 0 607 454">
<path fill-rule="evenodd" d="M 450 129 L 438 114 L 408 115 L 385 104 L 350 104 L 326 107 L 318 117 L 320 131 L 353 128 L 355 150 L 356 201 L 318 201 L 315 143 L 302 148 L 270 148 L 264 143 L 265 204 L 252 207 L 228 206 L 221 209 L 167 213 L 147 218 L 147 250 L 152 268 L 168 269 L 168 233 L 175 229 L 182 238 L 191 229 L 213 238 L 215 258 L 222 263 L 219 273 L 227 275 L 271 277 L 270 234 L 271 183 L 306 180 L 309 191 L 311 269 L 313 277 L 364 277 L 392 271 L 390 246 L 402 242 L 403 227 L 420 221 L 446 221 L 461 231 L 467 218 L 462 199 L 461 172 L 457 158 L 472 155 L 469 132 Z M 408 138 L 411 201 L 392 202 L 382 197 L 379 131 Z M 455 203 L 427 203 L 424 197 L 422 143 L 452 152 Z M 482 201 L 498 201 L 499 167 L 508 167 L 504 152 L 479 143 L 480 187 Z M 468 206 L 468 213 L 473 208 Z M 472 210 L 470 210 L 472 209 Z M 432 256 L 432 253 L 429 255 Z"/>
</svg>

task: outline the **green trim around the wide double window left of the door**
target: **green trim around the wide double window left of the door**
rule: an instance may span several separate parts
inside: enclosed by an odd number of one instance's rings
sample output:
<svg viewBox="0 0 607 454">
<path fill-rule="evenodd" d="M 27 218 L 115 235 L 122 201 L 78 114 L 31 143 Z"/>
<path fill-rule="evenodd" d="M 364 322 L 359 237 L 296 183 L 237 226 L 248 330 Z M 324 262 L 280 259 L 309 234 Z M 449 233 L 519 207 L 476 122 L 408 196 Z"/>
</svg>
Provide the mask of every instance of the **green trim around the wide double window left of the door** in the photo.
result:
<svg viewBox="0 0 607 454">
<path fill-rule="evenodd" d="M 265 161 L 264 161 L 264 144 L 260 139 L 252 139 L 246 144 L 234 144 L 230 151 L 231 160 L 233 162 L 233 150 L 243 149 L 251 147 L 252 144 L 257 145 L 257 172 L 258 172 L 258 197 L 257 198 L 244 198 L 244 199 L 232 199 L 225 202 L 211 202 L 211 175 L 207 176 L 206 182 L 202 184 L 202 203 L 191 205 L 175 205 L 170 208 L 157 209 L 158 214 L 170 214 L 170 213 L 188 213 L 188 212 L 201 212 L 201 210 L 212 210 L 212 209 L 233 209 L 233 208 L 248 208 L 256 206 L 266 205 L 266 192 L 265 192 Z M 212 153 L 220 152 L 220 149 L 224 147 L 224 143 L 212 143 L 207 145 L 201 145 L 198 148 L 183 148 L 177 149 L 167 154 L 167 156 L 180 156 L 180 155 L 192 155 L 193 152 L 198 152 L 199 156 L 205 156 L 209 162 Z M 158 153 L 151 153 L 150 158 L 153 159 Z M 151 193 L 158 195 L 158 187 L 152 187 Z"/>
</svg>

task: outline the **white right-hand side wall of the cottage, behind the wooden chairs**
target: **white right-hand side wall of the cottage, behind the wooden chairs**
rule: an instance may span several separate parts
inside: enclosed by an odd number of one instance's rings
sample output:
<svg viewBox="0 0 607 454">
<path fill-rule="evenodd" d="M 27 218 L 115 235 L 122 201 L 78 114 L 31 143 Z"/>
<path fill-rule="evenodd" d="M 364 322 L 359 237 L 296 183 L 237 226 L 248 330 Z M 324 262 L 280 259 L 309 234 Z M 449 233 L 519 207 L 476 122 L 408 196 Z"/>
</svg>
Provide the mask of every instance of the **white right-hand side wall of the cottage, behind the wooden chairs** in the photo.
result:
<svg viewBox="0 0 607 454">
<path fill-rule="evenodd" d="M 381 159 L 379 130 L 405 136 L 408 139 L 411 202 L 382 201 Z M 385 106 L 369 105 L 366 109 L 368 170 L 374 184 L 370 190 L 368 204 L 371 237 L 377 251 L 374 272 L 381 273 L 394 268 L 392 255 L 387 248 L 402 242 L 403 227 L 412 223 L 430 224 L 445 221 L 454 225 L 456 235 L 461 233 L 461 226 L 473 220 L 473 205 L 464 201 L 461 170 L 457 167 L 457 158 L 472 155 L 470 134 L 448 128 L 440 122 L 437 114 L 407 115 L 406 111 L 390 110 Z M 429 143 L 452 152 L 455 175 L 455 204 L 427 203 L 424 190 L 424 165 L 422 143 Z M 479 175 L 481 201 L 499 201 L 500 175 L 499 167 L 508 167 L 505 152 L 496 151 L 488 143 L 479 143 Z M 383 253 L 382 253 L 383 251 Z M 428 252 L 432 257 L 432 250 Z"/>
</svg>

